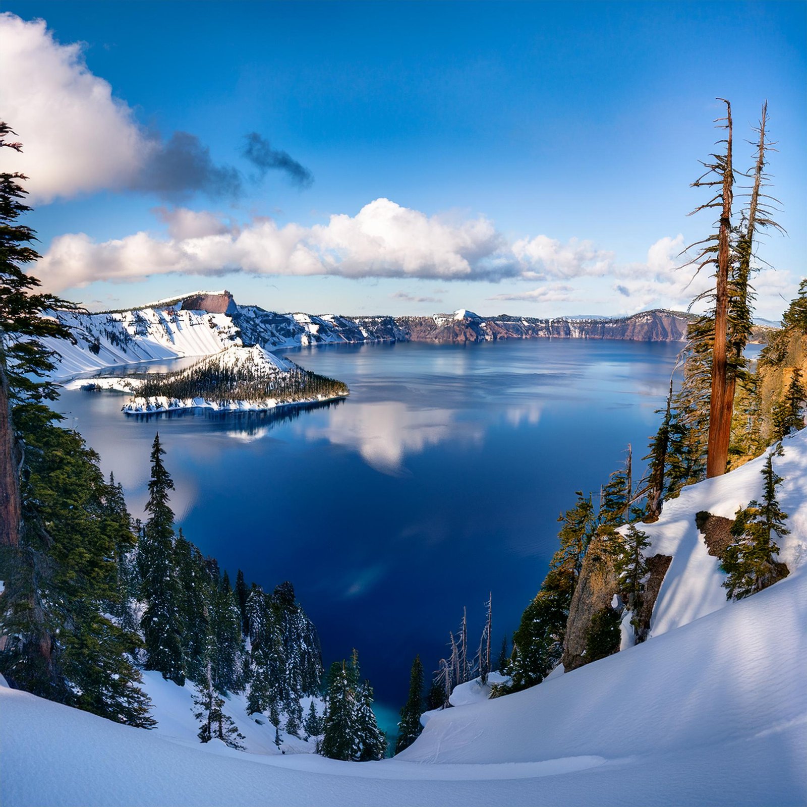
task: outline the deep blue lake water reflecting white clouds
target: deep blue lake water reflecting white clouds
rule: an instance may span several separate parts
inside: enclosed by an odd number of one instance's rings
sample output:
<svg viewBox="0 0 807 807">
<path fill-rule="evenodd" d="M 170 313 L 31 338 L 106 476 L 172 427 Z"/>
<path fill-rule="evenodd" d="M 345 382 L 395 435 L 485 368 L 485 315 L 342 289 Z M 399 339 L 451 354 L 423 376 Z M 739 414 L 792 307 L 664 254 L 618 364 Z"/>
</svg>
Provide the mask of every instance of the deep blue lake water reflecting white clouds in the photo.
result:
<svg viewBox="0 0 807 807">
<path fill-rule="evenodd" d="M 138 516 L 159 429 L 186 536 L 231 579 L 240 568 L 267 589 L 291 580 L 326 665 L 358 648 L 378 700 L 399 709 L 412 658 L 437 668 L 463 606 L 473 644 L 488 592 L 495 648 L 512 633 L 575 490 L 599 491 L 628 443 L 643 465 L 679 349 L 320 347 L 291 358 L 348 383 L 344 403 L 136 419 L 119 411 L 120 395 L 64 391 L 56 408 Z"/>
</svg>

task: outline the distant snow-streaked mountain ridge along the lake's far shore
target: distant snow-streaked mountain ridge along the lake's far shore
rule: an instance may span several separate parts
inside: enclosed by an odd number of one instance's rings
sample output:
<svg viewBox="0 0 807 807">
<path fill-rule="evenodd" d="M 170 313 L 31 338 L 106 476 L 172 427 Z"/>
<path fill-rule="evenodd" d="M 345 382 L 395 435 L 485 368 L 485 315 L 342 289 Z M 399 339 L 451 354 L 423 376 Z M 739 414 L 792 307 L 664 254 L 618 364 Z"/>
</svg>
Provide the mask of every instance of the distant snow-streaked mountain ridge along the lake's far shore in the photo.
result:
<svg viewBox="0 0 807 807">
<path fill-rule="evenodd" d="M 53 340 L 60 376 L 134 362 L 202 356 L 231 345 L 267 350 L 378 341 L 467 343 L 502 339 L 685 341 L 691 314 L 657 309 L 624 317 L 479 316 L 460 309 L 433 316 L 313 316 L 240 305 L 229 291 L 196 291 L 143 307 L 52 312 L 74 342 Z"/>
</svg>

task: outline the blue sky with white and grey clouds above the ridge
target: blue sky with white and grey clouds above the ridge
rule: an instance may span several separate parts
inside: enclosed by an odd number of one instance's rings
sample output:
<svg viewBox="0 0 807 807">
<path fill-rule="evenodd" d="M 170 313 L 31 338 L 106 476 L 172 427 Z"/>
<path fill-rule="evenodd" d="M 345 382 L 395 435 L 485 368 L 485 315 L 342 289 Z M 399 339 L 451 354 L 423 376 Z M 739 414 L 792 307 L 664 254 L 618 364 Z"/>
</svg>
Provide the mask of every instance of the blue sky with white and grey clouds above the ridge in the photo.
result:
<svg viewBox="0 0 807 807">
<path fill-rule="evenodd" d="M 757 314 L 807 274 L 805 2 L 15 2 L 0 111 L 44 288 L 276 311 L 617 315 L 709 286 L 690 183 L 732 103 L 771 194 Z M 7 152 L 7 153 L 6 153 Z M 744 199 L 735 190 L 735 220 Z"/>
</svg>

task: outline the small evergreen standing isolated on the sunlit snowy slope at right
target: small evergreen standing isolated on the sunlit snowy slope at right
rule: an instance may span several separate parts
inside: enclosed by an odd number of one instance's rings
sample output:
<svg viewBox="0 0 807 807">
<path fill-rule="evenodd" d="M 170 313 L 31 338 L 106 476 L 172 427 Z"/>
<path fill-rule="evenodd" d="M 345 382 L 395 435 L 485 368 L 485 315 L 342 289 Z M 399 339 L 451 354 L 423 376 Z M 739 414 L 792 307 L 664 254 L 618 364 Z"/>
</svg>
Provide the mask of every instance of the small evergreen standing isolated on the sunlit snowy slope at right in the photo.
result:
<svg viewBox="0 0 807 807">
<path fill-rule="evenodd" d="M 773 454 L 771 451 L 767 455 L 761 472 L 762 504 L 754 500 L 747 508 L 738 509 L 731 527 L 734 541 L 721 560 L 721 567 L 728 575 L 723 583 L 728 599 L 740 600 L 755 594 L 788 574 L 784 564 L 773 558 L 779 552 L 774 535 L 783 537 L 789 533 L 784 526 L 788 515 L 776 500 L 776 488 L 782 478 L 773 470 Z"/>
</svg>

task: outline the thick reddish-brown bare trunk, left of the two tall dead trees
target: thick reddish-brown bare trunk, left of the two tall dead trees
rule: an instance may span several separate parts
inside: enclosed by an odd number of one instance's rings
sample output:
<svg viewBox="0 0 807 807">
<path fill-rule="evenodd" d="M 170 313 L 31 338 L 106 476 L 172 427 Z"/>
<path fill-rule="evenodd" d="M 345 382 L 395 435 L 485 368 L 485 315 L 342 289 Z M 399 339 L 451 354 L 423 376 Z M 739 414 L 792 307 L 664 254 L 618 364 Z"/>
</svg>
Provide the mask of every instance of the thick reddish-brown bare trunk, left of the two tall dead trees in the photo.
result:
<svg viewBox="0 0 807 807">
<path fill-rule="evenodd" d="M 723 207 L 717 237 L 717 283 L 715 287 L 714 345 L 712 349 L 712 395 L 709 403 L 709 441 L 706 454 L 706 476 L 725 474 L 729 459 L 731 418 L 726 417 L 733 402 L 727 405 L 726 341 L 729 324 L 729 264 L 732 203 L 731 104 L 725 102 L 728 136 L 723 165 Z"/>
</svg>

